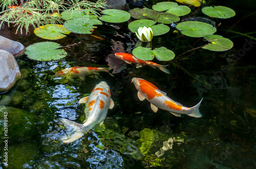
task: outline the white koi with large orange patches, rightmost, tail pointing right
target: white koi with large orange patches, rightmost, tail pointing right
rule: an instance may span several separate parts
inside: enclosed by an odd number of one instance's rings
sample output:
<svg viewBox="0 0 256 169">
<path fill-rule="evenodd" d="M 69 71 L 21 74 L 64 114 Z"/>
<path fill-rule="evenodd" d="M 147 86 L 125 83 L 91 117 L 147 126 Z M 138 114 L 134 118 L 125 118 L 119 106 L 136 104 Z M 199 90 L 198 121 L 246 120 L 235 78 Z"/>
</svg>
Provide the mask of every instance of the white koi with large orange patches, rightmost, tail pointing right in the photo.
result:
<svg viewBox="0 0 256 169">
<path fill-rule="evenodd" d="M 138 98 L 143 101 L 148 100 L 151 103 L 151 108 L 154 112 L 157 112 L 158 108 L 169 111 L 174 116 L 180 117 L 180 114 L 185 114 L 191 117 L 202 117 L 199 112 L 199 106 L 201 101 L 193 107 L 185 107 L 182 104 L 170 99 L 166 96 L 166 93 L 160 91 L 151 82 L 148 82 L 142 78 L 134 77 L 132 79 L 136 89 L 138 90 Z"/>
</svg>

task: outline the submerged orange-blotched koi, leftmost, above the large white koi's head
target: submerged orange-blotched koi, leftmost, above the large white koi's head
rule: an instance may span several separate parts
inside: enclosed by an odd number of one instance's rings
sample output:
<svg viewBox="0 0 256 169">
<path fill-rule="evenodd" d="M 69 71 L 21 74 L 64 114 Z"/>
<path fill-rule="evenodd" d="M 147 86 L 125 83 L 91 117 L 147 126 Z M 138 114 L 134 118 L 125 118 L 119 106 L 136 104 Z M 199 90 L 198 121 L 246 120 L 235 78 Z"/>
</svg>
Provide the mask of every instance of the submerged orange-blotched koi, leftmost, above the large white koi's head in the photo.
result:
<svg viewBox="0 0 256 169">
<path fill-rule="evenodd" d="M 90 74 L 97 74 L 98 72 L 108 72 L 112 70 L 112 67 L 109 68 L 93 68 L 93 67 L 71 67 L 58 71 L 56 76 L 67 77 L 70 81 L 74 81 L 73 77 L 80 77 L 83 81 L 86 79 L 86 76 Z"/>
</svg>

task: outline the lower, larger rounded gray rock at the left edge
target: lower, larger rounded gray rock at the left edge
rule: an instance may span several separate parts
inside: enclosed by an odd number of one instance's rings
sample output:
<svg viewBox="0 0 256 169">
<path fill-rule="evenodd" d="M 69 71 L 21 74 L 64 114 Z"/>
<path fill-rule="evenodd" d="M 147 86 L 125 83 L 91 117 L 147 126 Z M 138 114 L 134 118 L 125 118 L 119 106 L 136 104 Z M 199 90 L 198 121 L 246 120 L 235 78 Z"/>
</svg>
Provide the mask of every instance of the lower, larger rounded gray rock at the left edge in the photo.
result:
<svg viewBox="0 0 256 169">
<path fill-rule="evenodd" d="M 0 49 L 0 93 L 7 92 L 21 77 L 18 64 L 13 55 Z"/>
</svg>

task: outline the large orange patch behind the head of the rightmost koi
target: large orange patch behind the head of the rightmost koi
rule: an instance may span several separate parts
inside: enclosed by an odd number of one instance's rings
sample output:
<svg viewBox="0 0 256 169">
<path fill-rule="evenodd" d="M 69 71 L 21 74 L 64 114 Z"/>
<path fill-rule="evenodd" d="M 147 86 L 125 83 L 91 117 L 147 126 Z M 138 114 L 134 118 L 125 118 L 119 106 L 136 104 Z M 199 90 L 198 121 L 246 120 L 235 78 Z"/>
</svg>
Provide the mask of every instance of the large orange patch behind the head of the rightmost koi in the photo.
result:
<svg viewBox="0 0 256 169">
<path fill-rule="evenodd" d="M 156 91 L 159 90 L 155 85 L 153 85 L 151 82 L 148 82 L 146 80 L 139 79 L 140 83 L 140 90 L 142 93 L 146 94 L 148 100 L 151 100 L 155 97 L 163 96 L 161 93 L 158 93 Z"/>
</svg>

